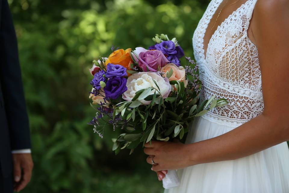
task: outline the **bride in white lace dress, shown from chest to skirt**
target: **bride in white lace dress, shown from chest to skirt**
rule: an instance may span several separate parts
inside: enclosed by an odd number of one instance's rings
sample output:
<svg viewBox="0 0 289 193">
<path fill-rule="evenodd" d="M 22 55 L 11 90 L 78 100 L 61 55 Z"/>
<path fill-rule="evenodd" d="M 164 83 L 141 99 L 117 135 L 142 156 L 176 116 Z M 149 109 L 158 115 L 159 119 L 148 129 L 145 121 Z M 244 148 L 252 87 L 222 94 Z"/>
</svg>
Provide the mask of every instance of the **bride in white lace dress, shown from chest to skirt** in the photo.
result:
<svg viewBox="0 0 289 193">
<path fill-rule="evenodd" d="M 210 2 L 194 55 L 202 97 L 229 104 L 196 119 L 186 144 L 145 145 L 159 180 L 179 169 L 181 185 L 166 192 L 289 192 L 288 24 L 288 0 Z"/>
</svg>

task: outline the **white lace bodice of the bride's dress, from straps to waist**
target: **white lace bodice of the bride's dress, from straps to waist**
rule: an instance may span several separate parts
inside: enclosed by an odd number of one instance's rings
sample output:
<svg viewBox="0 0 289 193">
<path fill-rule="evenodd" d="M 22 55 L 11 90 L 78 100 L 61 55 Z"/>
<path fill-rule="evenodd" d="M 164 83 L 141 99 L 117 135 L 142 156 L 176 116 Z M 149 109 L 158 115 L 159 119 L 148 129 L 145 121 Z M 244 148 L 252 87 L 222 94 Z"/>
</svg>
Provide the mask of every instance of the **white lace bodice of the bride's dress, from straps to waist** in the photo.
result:
<svg viewBox="0 0 289 193">
<path fill-rule="evenodd" d="M 257 47 L 247 30 L 257 0 L 247 0 L 218 26 L 204 55 L 204 35 L 222 0 L 212 0 L 194 32 L 193 47 L 203 82 L 202 98 L 213 95 L 229 101 L 203 117 L 220 124 L 239 126 L 263 111 L 261 72 Z"/>
</svg>

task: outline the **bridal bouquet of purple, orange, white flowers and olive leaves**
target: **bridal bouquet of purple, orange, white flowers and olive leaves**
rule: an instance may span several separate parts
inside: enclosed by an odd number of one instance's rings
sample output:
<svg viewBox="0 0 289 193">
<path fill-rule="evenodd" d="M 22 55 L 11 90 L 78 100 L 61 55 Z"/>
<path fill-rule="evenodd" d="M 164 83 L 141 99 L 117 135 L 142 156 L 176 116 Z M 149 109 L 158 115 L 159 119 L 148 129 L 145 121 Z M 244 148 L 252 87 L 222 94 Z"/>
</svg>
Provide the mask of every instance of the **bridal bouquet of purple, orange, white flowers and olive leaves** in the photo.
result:
<svg viewBox="0 0 289 193">
<path fill-rule="evenodd" d="M 157 34 L 153 40 L 148 49 L 117 49 L 90 69 L 89 97 L 97 112 L 89 125 L 100 137 L 107 125 L 122 131 L 112 139 L 116 154 L 151 140 L 182 139 L 194 117 L 228 103 L 215 96 L 200 103 L 197 64 L 186 57 L 181 65 L 184 52 L 176 38 Z"/>
</svg>

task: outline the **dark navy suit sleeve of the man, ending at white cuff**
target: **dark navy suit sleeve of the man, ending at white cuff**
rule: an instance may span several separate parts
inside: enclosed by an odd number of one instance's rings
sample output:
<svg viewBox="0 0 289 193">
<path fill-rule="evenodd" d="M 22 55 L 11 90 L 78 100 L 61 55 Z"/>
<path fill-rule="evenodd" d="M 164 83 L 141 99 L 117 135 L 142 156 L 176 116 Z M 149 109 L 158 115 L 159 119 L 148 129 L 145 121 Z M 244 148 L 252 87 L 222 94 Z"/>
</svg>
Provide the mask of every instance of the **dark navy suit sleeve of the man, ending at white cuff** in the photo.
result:
<svg viewBox="0 0 289 193">
<path fill-rule="evenodd" d="M 11 149 L 28 149 L 30 132 L 18 59 L 17 38 L 7 0 L 0 1 L 0 81 Z"/>
</svg>

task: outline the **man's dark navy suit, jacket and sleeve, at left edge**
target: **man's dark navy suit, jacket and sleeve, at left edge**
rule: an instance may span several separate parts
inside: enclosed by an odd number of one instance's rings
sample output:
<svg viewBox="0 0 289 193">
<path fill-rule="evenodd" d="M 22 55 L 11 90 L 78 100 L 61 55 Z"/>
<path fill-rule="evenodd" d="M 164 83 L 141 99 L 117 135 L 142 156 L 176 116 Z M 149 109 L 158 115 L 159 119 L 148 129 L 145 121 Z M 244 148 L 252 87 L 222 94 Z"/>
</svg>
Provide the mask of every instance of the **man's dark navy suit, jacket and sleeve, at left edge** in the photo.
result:
<svg viewBox="0 0 289 193">
<path fill-rule="evenodd" d="M 7 0 L 0 0 L 0 21 L 0 192 L 8 193 L 13 183 L 11 150 L 30 148 L 30 134 L 17 39 Z"/>
</svg>

